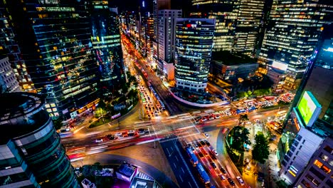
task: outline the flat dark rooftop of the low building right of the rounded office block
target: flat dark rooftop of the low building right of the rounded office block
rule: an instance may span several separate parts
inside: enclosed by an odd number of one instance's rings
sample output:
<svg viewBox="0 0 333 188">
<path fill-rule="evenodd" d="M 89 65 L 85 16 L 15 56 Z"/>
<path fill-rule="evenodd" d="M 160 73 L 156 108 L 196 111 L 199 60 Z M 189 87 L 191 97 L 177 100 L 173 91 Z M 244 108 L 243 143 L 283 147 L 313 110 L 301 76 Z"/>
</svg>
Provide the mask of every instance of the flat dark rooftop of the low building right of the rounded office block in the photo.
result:
<svg viewBox="0 0 333 188">
<path fill-rule="evenodd" d="M 212 59 L 216 63 L 221 63 L 226 66 L 250 64 L 257 62 L 254 58 L 250 58 L 244 55 L 235 55 L 228 51 L 212 52 Z"/>
</svg>

